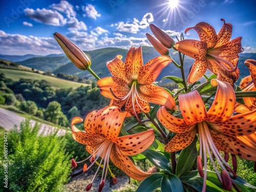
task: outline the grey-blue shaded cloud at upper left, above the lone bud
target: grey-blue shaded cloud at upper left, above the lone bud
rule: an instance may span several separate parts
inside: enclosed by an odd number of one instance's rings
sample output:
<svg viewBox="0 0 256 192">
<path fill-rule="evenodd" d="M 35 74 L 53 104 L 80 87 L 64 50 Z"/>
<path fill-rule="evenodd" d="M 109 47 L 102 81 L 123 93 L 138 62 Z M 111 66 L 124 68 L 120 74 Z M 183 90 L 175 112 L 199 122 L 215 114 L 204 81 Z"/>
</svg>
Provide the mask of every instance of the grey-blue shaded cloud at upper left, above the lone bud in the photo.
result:
<svg viewBox="0 0 256 192">
<path fill-rule="evenodd" d="M 67 23 L 67 19 L 56 10 L 26 8 L 24 13 L 36 22 L 46 25 L 63 26 Z"/>
</svg>

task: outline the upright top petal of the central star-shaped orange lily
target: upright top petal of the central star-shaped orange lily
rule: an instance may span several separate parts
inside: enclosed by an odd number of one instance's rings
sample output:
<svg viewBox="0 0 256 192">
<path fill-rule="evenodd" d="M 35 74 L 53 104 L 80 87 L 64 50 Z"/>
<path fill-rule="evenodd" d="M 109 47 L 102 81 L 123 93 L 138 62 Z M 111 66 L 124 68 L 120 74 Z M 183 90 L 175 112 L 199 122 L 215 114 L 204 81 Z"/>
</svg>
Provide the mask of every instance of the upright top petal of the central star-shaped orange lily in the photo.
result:
<svg viewBox="0 0 256 192">
<path fill-rule="evenodd" d="M 138 78 L 140 68 L 143 65 L 141 46 L 131 47 L 125 57 L 125 76 L 126 79 L 131 81 Z"/>
</svg>

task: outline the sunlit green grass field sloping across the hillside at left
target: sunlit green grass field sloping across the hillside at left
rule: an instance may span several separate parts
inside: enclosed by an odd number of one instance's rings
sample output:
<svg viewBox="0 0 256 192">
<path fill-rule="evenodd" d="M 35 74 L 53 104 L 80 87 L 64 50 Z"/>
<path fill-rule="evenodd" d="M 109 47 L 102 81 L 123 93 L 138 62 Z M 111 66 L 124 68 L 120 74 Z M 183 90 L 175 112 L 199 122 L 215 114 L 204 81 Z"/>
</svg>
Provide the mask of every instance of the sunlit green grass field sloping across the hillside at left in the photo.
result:
<svg viewBox="0 0 256 192">
<path fill-rule="evenodd" d="M 11 78 L 14 81 L 18 81 L 21 78 L 32 79 L 32 80 L 46 80 L 51 83 L 51 86 L 54 89 L 61 88 L 78 88 L 80 86 L 90 86 L 89 84 L 79 83 L 74 81 L 69 81 L 65 79 L 60 79 L 56 77 L 46 76 L 38 73 L 32 73 L 28 71 L 19 71 L 19 70 L 11 70 L 11 69 L 0 69 L 0 73 L 4 73 L 7 78 Z"/>
</svg>

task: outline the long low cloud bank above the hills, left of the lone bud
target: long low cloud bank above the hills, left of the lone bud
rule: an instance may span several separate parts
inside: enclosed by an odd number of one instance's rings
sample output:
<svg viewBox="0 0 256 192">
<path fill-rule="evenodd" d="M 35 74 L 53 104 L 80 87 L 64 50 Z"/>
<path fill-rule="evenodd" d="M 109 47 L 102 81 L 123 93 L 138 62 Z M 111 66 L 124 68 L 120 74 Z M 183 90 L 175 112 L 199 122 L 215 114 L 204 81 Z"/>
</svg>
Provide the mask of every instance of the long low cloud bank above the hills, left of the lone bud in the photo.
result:
<svg viewBox="0 0 256 192">
<path fill-rule="evenodd" d="M 8 34 L 0 30 L 0 52 L 8 55 L 62 53 L 52 37 Z"/>
</svg>

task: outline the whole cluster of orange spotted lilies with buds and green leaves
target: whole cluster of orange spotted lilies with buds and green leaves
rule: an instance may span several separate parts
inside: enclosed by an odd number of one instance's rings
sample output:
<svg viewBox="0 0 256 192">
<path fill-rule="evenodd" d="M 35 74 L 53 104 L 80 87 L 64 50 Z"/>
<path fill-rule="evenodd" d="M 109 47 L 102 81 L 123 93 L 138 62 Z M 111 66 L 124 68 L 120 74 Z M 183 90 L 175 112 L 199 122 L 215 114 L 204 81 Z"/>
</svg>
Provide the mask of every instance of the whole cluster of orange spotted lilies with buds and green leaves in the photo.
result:
<svg viewBox="0 0 256 192">
<path fill-rule="evenodd" d="M 111 99 L 108 106 L 87 115 L 84 131 L 75 127 L 83 121 L 81 118 L 75 117 L 71 122 L 73 138 L 86 145 L 91 154 L 80 162 L 72 159 L 72 166 L 90 160 L 90 166 L 85 163 L 83 171 L 96 163 L 95 176 L 102 167 L 98 191 L 104 186 L 108 170 L 113 183 L 117 183 L 109 167 L 110 160 L 131 178 L 144 180 L 138 191 L 159 186 L 161 189 L 169 186 L 173 191 L 184 188 L 206 191 L 212 186 L 241 191 L 236 184 L 236 156 L 256 161 L 256 61 L 245 61 L 251 75 L 237 86 L 242 37 L 230 40 L 232 26 L 221 20 L 223 27 L 218 34 L 211 25 L 201 22 L 185 30 L 186 33 L 194 29 L 200 40 L 184 39 L 182 34 L 176 43 L 151 24 L 155 37 L 149 33 L 146 37 L 160 56 L 143 65 L 142 47 L 132 47 L 124 61 L 117 55 L 106 62 L 112 77 L 104 78 L 93 73 L 91 61 L 73 42 L 59 33 L 54 34 L 71 61 L 79 69 L 91 72 L 98 79 L 100 93 Z M 178 52 L 180 64 L 170 57 L 169 49 Z M 184 55 L 195 59 L 187 79 Z M 180 69 L 182 78 L 164 77 L 178 84 L 177 89 L 167 90 L 155 81 L 171 62 Z M 206 77 L 207 69 L 213 73 L 211 77 Z M 206 79 L 201 83 L 203 76 Z M 129 124 L 127 121 L 133 122 L 129 129 L 123 126 Z M 130 132 L 133 129 L 137 131 Z M 152 145 L 155 140 L 158 150 Z M 128 156 L 140 153 L 163 172 L 146 173 L 135 166 Z M 228 163 L 229 153 L 232 166 Z M 207 170 L 209 162 L 218 179 L 207 177 L 211 174 Z M 91 189 L 93 180 L 86 190 Z M 201 185 L 194 185 L 193 181 Z"/>
</svg>

